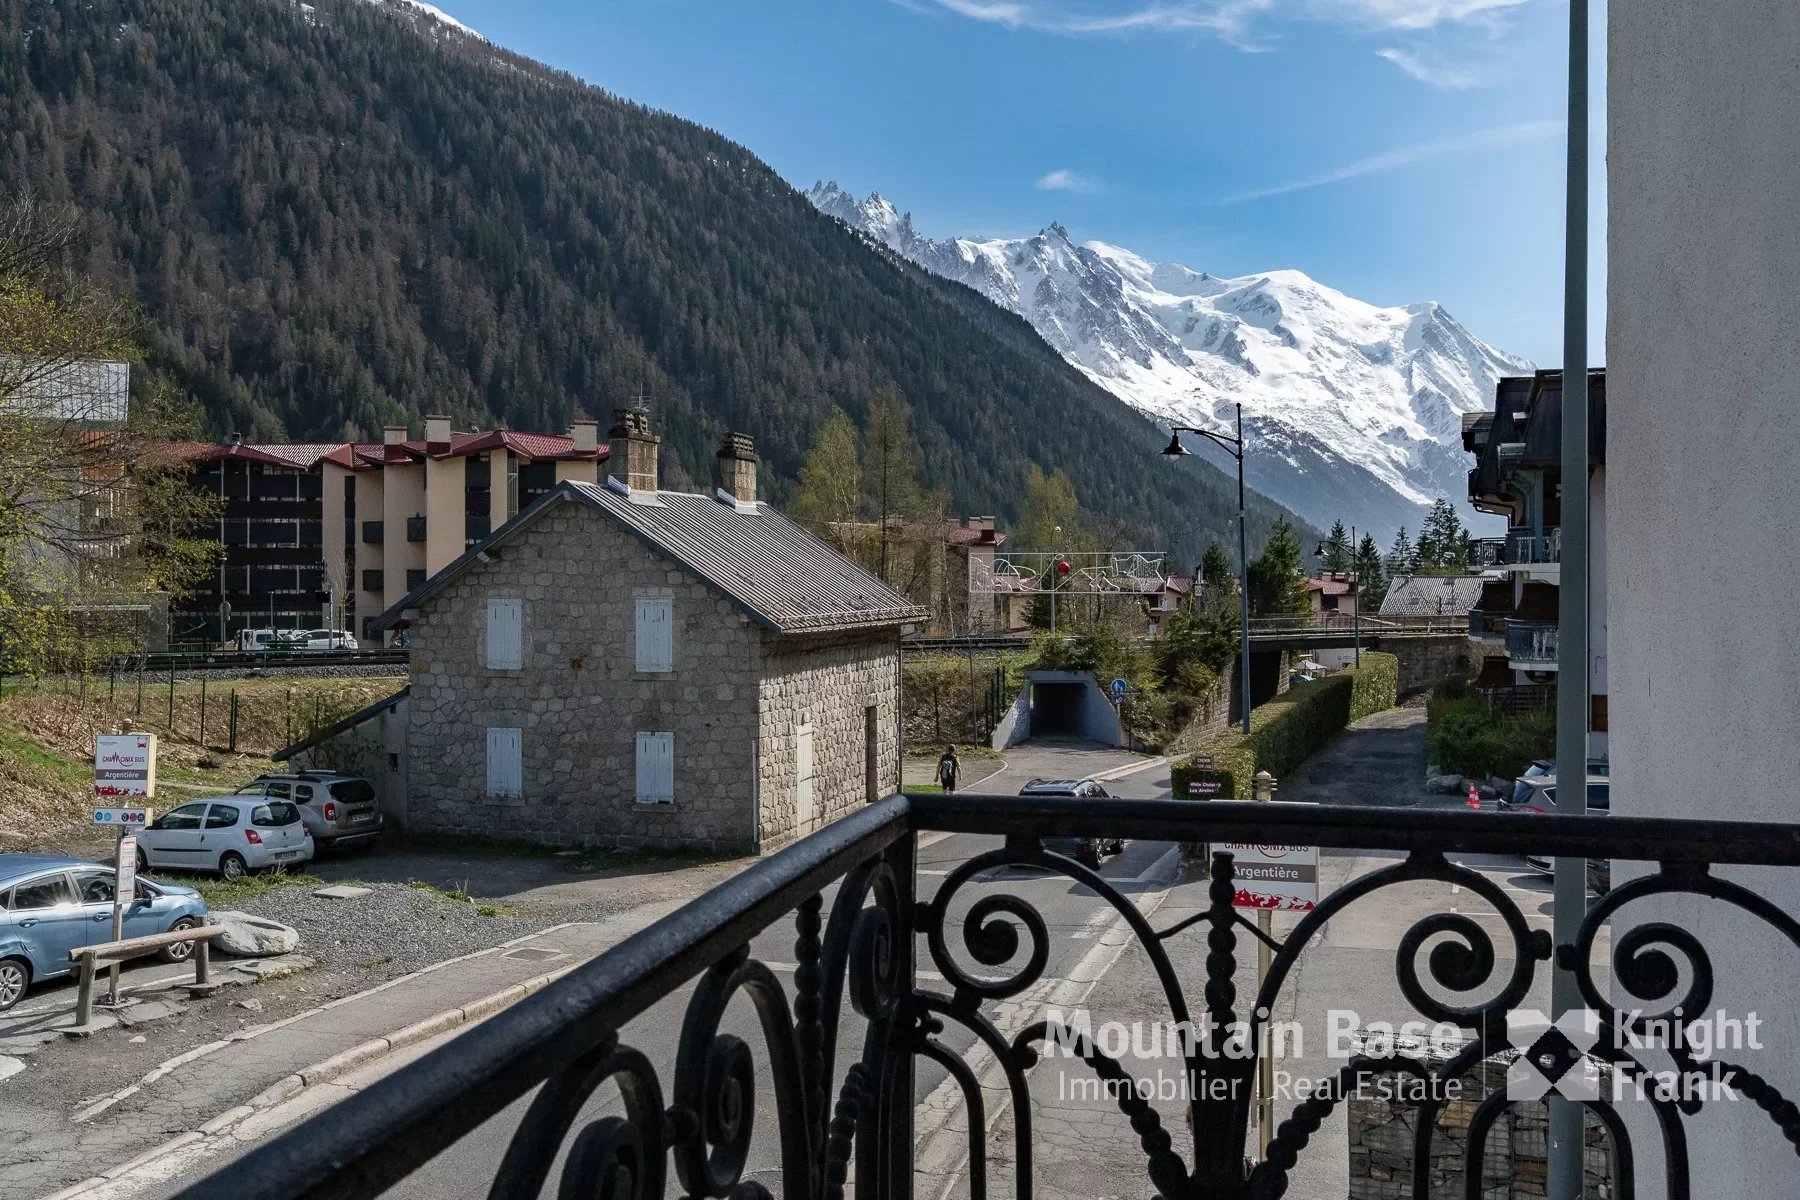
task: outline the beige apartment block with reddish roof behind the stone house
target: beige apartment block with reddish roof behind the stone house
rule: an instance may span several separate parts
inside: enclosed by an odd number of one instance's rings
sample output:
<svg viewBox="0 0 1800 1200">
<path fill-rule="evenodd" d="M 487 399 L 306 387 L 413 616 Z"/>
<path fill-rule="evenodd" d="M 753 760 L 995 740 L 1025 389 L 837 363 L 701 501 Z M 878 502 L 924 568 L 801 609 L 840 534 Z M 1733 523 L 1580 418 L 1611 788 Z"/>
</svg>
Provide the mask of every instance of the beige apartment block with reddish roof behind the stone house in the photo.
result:
<svg viewBox="0 0 1800 1200">
<path fill-rule="evenodd" d="M 599 423 L 567 435 L 490 430 L 457 434 L 450 417 L 425 417 L 380 443 L 333 448 L 320 462 L 324 588 L 355 615 L 355 633 L 401 596 L 455 561 L 563 480 L 598 480 L 607 446 Z"/>
</svg>

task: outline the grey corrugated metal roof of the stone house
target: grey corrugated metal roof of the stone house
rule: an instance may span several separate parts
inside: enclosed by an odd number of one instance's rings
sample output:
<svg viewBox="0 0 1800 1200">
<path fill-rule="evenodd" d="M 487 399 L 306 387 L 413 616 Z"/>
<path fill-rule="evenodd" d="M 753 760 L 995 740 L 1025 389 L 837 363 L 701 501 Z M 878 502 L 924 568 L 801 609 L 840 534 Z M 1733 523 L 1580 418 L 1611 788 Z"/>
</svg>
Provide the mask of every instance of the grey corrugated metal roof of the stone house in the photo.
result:
<svg viewBox="0 0 1800 1200">
<path fill-rule="evenodd" d="M 680 491 L 639 493 L 634 502 L 607 486 L 562 482 L 376 617 L 374 628 L 398 621 L 400 610 L 427 601 L 477 554 L 517 536 L 558 502 L 576 502 L 616 520 L 778 633 L 895 626 L 923 621 L 927 615 L 927 610 L 767 504 L 740 509 L 713 497 Z"/>
</svg>

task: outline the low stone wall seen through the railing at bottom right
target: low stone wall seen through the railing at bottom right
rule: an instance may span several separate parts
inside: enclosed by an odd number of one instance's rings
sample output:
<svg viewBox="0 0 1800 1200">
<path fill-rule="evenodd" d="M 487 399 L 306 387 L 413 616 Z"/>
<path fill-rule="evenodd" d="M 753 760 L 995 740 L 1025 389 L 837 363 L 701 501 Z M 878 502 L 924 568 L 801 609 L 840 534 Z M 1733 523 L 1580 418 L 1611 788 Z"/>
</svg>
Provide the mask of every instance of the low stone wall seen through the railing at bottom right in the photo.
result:
<svg viewBox="0 0 1800 1200">
<path fill-rule="evenodd" d="M 1444 1058 L 1426 1054 L 1436 1070 Z M 1433 1196 L 1462 1196 L 1469 1157 L 1469 1123 L 1492 1092 L 1507 1088 L 1507 1060 L 1487 1058 L 1469 1074 L 1458 1099 L 1438 1114 L 1431 1139 Z M 1611 1087 L 1609 1083 L 1606 1087 Z M 1602 1088 L 1604 1090 L 1604 1088 Z M 1373 1092 L 1373 1088 L 1372 1088 Z M 1413 1133 L 1418 1108 L 1382 1096 L 1352 1096 L 1350 1119 L 1350 1200 L 1413 1200 Z M 1481 1200 L 1537 1200 L 1544 1196 L 1544 1150 L 1548 1114 L 1543 1101 L 1510 1105 L 1487 1133 L 1481 1157 Z M 1588 1114 L 1586 1148 L 1588 1200 L 1615 1200 L 1613 1151 L 1600 1117 Z"/>
</svg>

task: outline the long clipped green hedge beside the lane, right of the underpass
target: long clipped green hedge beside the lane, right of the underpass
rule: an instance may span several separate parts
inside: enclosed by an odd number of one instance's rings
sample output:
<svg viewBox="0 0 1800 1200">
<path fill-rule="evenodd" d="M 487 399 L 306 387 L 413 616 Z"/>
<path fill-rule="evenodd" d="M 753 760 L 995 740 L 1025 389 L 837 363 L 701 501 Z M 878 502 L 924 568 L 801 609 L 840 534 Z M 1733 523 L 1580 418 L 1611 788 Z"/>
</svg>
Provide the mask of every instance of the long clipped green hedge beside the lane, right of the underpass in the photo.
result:
<svg viewBox="0 0 1800 1200">
<path fill-rule="evenodd" d="M 1391 709 L 1399 680 L 1399 658 L 1368 651 L 1354 671 L 1294 684 L 1251 711 L 1249 736 L 1233 730 L 1195 747 L 1188 761 L 1170 768 L 1170 788 L 1179 799 L 1247 801 L 1258 770 L 1280 779 L 1350 721 Z M 1195 766 L 1195 757 L 1211 757 L 1211 766 Z M 1215 784 L 1217 792 L 1195 795 L 1195 783 Z"/>
</svg>

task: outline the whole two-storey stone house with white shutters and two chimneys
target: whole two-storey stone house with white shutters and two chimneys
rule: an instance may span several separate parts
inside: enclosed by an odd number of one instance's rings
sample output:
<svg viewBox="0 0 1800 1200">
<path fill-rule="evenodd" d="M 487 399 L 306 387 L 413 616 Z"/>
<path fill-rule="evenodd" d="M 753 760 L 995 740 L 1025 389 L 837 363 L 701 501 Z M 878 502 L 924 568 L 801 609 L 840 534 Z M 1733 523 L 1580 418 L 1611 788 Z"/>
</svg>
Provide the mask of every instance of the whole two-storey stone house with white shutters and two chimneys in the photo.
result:
<svg viewBox="0 0 1800 1200">
<path fill-rule="evenodd" d="M 643 412 L 385 612 L 412 648 L 405 824 L 756 853 L 900 784 L 900 633 L 925 612 L 756 500 L 657 489 Z"/>
</svg>

